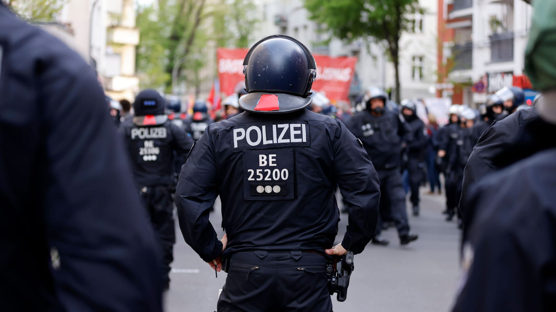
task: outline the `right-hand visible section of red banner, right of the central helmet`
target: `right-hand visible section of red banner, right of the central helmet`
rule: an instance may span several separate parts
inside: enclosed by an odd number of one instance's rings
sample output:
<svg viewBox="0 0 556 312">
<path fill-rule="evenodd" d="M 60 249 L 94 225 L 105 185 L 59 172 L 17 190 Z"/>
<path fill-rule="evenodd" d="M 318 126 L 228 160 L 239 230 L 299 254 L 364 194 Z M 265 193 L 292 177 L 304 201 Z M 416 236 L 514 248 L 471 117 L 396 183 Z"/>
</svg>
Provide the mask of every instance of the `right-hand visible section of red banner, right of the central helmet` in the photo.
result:
<svg viewBox="0 0 556 312">
<path fill-rule="evenodd" d="M 347 100 L 357 58 L 319 55 L 314 57 L 317 72 L 311 90 L 322 92 L 331 100 Z"/>
</svg>

